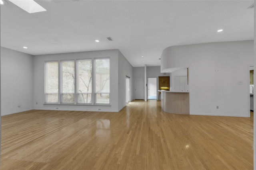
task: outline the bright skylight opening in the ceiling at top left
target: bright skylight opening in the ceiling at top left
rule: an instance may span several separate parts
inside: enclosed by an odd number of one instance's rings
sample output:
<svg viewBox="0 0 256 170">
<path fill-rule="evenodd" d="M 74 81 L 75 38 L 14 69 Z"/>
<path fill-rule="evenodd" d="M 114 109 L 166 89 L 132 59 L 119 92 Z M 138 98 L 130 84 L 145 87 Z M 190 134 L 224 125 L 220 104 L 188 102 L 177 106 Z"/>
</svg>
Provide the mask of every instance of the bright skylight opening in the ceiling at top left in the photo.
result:
<svg viewBox="0 0 256 170">
<path fill-rule="evenodd" d="M 16 6 L 22 8 L 28 13 L 43 12 L 46 11 L 42 6 L 36 3 L 34 0 L 9 0 Z"/>
</svg>

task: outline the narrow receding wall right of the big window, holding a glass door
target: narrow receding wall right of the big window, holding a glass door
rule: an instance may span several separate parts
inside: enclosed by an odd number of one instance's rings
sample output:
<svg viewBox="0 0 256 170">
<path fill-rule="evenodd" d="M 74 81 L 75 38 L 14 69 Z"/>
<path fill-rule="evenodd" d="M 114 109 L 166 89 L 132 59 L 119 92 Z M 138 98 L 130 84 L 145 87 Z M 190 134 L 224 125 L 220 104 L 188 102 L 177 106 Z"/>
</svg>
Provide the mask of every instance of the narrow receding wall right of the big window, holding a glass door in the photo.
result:
<svg viewBox="0 0 256 170">
<path fill-rule="evenodd" d="M 126 106 L 126 76 L 130 77 L 130 98 L 134 99 L 133 67 L 118 50 L 118 110 Z"/>
</svg>

